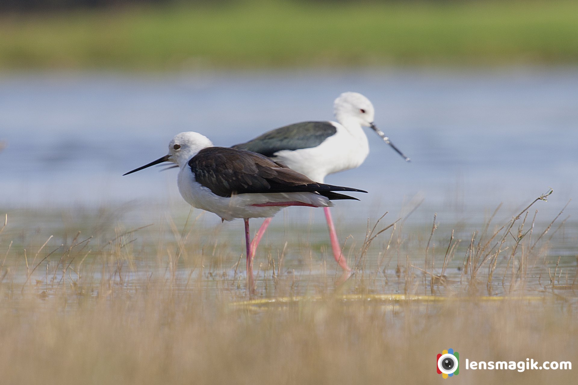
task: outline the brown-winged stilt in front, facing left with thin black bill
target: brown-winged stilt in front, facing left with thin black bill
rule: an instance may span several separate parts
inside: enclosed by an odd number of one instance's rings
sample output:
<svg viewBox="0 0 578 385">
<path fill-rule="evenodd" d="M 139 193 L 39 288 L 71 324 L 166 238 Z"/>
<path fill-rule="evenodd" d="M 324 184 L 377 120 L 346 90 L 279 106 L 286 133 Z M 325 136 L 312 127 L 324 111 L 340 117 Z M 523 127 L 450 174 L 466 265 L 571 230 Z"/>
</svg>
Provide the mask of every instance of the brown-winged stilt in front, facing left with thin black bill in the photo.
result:
<svg viewBox="0 0 578 385">
<path fill-rule="evenodd" d="M 213 143 L 197 132 L 182 132 L 169 143 L 169 154 L 138 169 L 162 162 L 179 166 L 179 192 L 190 205 L 223 220 L 243 218 L 247 246 L 247 289 L 253 291 L 253 255 L 262 236 L 250 241 L 249 218 L 271 218 L 287 206 L 329 207 L 330 200 L 357 199 L 334 191 L 366 192 L 310 180 L 266 156 Z"/>
</svg>

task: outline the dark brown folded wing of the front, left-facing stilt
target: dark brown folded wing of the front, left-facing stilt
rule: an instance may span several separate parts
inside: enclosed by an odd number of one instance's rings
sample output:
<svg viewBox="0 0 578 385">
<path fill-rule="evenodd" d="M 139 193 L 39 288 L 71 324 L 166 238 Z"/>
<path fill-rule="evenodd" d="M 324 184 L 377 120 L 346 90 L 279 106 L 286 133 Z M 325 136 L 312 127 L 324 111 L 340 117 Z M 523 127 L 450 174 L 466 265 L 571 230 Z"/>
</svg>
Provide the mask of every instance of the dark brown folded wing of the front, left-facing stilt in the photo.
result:
<svg viewBox="0 0 578 385">
<path fill-rule="evenodd" d="M 324 192 L 330 191 L 365 192 L 316 183 L 266 156 L 233 148 L 204 148 L 189 160 L 188 165 L 199 184 L 223 197 L 251 193 L 320 192 L 326 195 Z"/>
</svg>

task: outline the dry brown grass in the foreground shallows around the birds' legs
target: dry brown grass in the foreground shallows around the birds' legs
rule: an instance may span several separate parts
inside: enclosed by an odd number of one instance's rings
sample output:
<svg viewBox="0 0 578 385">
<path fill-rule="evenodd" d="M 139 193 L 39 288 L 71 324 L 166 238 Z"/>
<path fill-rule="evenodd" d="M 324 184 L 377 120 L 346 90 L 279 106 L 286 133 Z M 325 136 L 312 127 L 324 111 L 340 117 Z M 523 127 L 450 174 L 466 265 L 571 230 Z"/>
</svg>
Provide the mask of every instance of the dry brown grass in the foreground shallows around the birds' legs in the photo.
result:
<svg viewBox="0 0 578 385">
<path fill-rule="evenodd" d="M 47 213 L 47 235 L 24 225 L 29 213 L 11 211 L 0 226 L 2 379 L 432 382 L 433 357 L 453 347 L 468 383 L 571 383 L 571 370 L 463 366 L 465 358 L 578 362 L 576 255 L 552 251 L 575 244 L 576 232 L 561 233 L 564 214 L 542 222 L 534 210 L 494 225 L 497 210 L 479 231 L 436 216 L 431 226 L 387 222 L 388 214 L 362 241 L 344 241 L 355 274 L 343 284 L 331 253 L 309 247 L 316 227 L 297 240 L 297 230 L 273 226 L 250 298 L 240 232 L 206 226 L 197 212 L 130 227 L 116 208 L 79 212 L 81 233 L 70 225 L 74 212 Z"/>
</svg>

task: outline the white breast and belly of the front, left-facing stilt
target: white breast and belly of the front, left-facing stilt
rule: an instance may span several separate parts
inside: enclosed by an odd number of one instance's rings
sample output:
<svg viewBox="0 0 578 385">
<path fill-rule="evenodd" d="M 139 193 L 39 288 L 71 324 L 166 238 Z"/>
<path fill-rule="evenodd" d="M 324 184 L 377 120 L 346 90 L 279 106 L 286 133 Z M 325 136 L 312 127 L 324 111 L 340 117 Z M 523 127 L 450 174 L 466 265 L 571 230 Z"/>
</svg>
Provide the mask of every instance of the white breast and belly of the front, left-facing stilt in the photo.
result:
<svg viewBox="0 0 578 385">
<path fill-rule="evenodd" d="M 192 207 L 214 212 L 225 220 L 235 218 L 271 218 L 284 206 L 257 207 L 254 204 L 298 201 L 316 207 L 332 206 L 331 201 L 316 193 L 239 194 L 231 197 L 214 195 L 195 180 L 190 167 L 185 164 L 177 179 L 179 192 Z"/>
</svg>

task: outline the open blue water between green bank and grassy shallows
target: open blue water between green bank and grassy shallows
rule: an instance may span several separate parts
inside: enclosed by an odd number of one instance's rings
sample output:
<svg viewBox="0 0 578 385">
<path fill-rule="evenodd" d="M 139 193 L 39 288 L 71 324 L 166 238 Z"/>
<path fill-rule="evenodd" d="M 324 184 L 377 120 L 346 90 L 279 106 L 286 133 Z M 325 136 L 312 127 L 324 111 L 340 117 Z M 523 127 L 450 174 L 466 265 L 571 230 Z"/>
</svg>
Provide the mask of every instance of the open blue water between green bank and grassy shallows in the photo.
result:
<svg viewBox="0 0 578 385">
<path fill-rule="evenodd" d="M 330 119 L 343 91 L 368 96 L 377 125 L 412 158 L 403 162 L 368 131 L 364 165 L 327 178 L 370 192 L 361 203 L 339 203 L 353 216 L 424 199 L 426 217 L 483 219 L 483 209 L 522 208 L 549 187 L 555 193 L 539 208 L 552 215 L 578 189 L 575 69 L 5 74 L 0 202 L 180 202 L 175 170 L 121 174 L 164 155 L 183 130 L 228 146 L 291 122 Z"/>
</svg>

